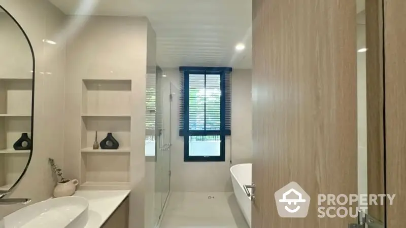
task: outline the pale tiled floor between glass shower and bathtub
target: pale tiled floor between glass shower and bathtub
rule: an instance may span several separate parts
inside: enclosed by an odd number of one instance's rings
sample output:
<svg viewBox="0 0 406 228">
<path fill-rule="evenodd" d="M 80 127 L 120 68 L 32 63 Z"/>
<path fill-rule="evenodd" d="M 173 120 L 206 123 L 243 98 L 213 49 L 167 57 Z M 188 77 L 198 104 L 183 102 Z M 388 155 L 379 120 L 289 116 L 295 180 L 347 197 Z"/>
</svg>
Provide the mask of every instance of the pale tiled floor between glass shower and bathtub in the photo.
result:
<svg viewBox="0 0 406 228">
<path fill-rule="evenodd" d="M 214 197 L 209 199 L 210 197 Z M 160 228 L 249 228 L 233 193 L 171 194 Z"/>
</svg>

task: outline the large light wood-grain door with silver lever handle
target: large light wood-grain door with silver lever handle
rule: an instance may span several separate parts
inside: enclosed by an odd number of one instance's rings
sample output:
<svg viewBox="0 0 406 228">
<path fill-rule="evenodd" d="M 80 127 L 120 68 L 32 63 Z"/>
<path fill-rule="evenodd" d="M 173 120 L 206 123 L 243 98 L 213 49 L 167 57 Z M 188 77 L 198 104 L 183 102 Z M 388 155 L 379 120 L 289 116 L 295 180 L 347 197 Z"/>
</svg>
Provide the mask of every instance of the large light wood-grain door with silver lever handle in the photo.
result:
<svg viewBox="0 0 406 228">
<path fill-rule="evenodd" d="M 353 0 L 253 0 L 253 228 L 354 222 L 319 218 L 317 196 L 357 193 L 355 21 Z M 278 215 L 291 181 L 311 197 L 306 218 Z"/>
</svg>

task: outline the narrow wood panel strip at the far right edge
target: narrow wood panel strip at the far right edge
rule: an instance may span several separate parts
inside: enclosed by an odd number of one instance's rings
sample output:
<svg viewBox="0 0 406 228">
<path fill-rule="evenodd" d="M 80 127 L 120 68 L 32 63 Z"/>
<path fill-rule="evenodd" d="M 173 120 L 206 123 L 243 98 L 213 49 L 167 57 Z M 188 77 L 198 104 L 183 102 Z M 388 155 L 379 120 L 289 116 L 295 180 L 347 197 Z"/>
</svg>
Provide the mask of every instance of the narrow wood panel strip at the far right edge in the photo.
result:
<svg viewBox="0 0 406 228">
<path fill-rule="evenodd" d="M 384 0 L 387 227 L 406 224 L 406 1 Z"/>
</svg>

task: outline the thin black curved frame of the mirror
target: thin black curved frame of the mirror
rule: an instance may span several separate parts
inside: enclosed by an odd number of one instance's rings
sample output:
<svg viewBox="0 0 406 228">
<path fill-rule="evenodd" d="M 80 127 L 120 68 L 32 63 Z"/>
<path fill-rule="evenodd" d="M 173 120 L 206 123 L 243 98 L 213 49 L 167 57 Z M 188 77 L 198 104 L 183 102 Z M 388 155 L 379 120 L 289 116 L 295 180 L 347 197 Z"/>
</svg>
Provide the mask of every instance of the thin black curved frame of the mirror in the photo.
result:
<svg viewBox="0 0 406 228">
<path fill-rule="evenodd" d="M 20 177 L 18 177 L 16 182 L 9 189 L 9 192 L 12 193 L 14 191 L 14 189 L 17 187 L 17 185 L 20 183 L 22 178 L 24 177 L 25 173 L 27 172 L 28 166 L 31 163 L 31 158 L 32 158 L 32 148 L 34 146 L 33 133 L 34 133 L 34 94 L 35 94 L 35 67 L 36 67 L 36 62 L 35 62 L 34 49 L 32 48 L 32 44 L 31 44 L 31 41 L 28 38 L 27 33 L 24 31 L 24 29 L 22 28 L 20 23 L 18 23 L 18 21 L 11 15 L 11 13 L 9 11 L 7 11 L 2 5 L 0 5 L 0 10 L 3 10 L 14 21 L 14 23 L 16 23 L 18 28 L 21 30 L 22 34 L 25 37 L 25 40 L 28 43 L 29 49 L 31 51 L 31 56 L 32 56 L 32 89 L 31 89 L 31 91 L 32 91 L 31 92 L 31 141 L 32 141 L 32 145 L 31 145 L 31 149 L 29 151 L 28 161 L 27 161 L 27 164 L 25 165 L 24 170 L 22 171 Z M 7 194 L 2 195 L 2 196 L 0 196 L 0 199 L 4 198 L 6 196 L 7 196 Z"/>
</svg>

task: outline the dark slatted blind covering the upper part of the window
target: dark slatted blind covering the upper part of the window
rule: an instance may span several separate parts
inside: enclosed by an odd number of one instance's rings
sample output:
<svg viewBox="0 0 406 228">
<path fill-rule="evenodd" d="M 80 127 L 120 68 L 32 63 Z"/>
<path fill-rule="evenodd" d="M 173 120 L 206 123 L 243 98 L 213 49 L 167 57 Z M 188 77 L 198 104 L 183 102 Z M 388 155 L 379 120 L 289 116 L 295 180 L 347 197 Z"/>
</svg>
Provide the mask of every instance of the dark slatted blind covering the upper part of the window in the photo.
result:
<svg viewBox="0 0 406 228">
<path fill-rule="evenodd" d="M 180 74 L 179 129 L 184 134 L 185 108 L 188 108 L 188 131 L 231 134 L 231 72 L 202 71 Z M 187 84 L 187 85 L 186 85 Z M 189 97 L 185 99 L 185 91 Z M 224 96 L 224 99 L 222 97 Z M 188 100 L 188 105 L 185 105 Z M 223 117 L 222 117 L 223 112 Z M 196 133 L 198 135 L 199 133 Z M 210 134 L 210 133 L 208 133 Z"/>
</svg>

